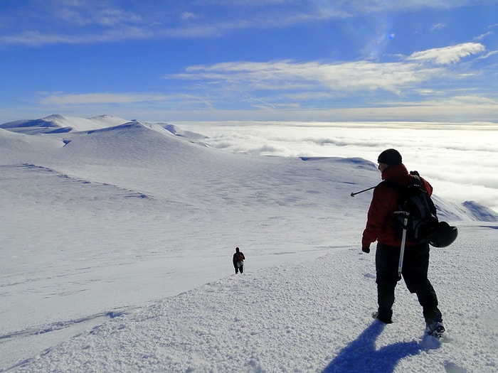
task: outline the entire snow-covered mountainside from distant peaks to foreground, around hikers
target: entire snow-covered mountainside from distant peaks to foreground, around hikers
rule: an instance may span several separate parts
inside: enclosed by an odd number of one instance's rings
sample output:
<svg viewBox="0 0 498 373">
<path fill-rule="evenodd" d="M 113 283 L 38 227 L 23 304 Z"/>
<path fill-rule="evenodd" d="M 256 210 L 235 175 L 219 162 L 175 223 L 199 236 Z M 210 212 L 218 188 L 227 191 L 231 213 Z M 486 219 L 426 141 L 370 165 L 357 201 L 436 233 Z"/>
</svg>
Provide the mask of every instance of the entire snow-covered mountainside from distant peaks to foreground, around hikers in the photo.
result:
<svg viewBox="0 0 498 373">
<path fill-rule="evenodd" d="M 370 161 L 250 156 L 171 124 L 55 115 L 1 125 L 0 170 L 0 371 L 498 367 L 498 219 L 478 204 L 435 196 L 460 229 L 433 254 L 443 345 L 421 339 L 403 284 L 397 323 L 372 324 L 370 195 L 349 196 L 378 183 Z"/>
</svg>

